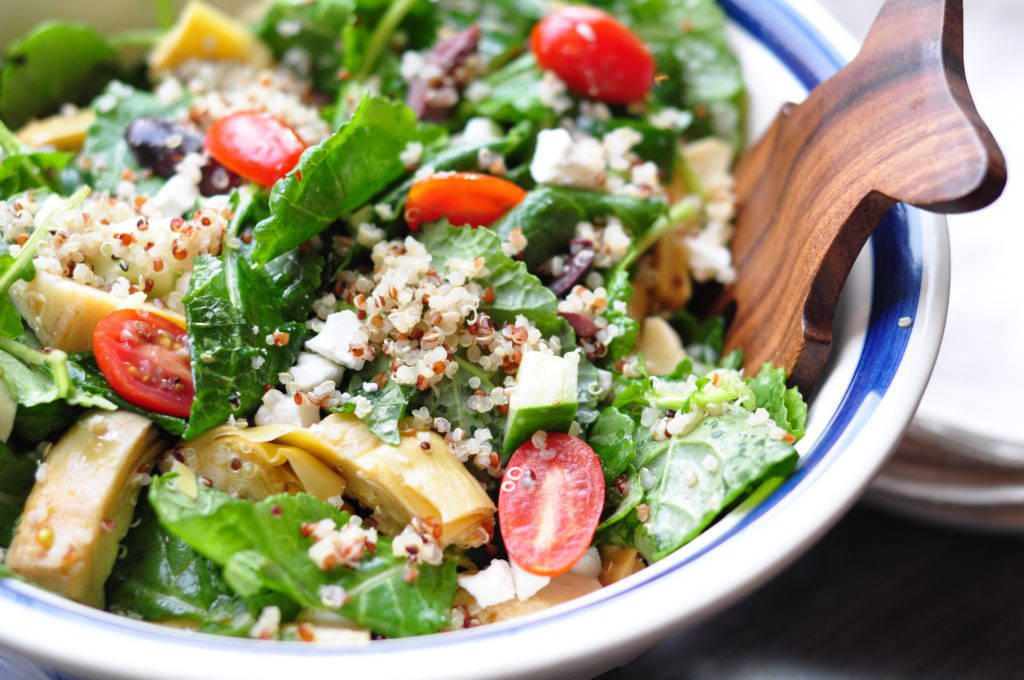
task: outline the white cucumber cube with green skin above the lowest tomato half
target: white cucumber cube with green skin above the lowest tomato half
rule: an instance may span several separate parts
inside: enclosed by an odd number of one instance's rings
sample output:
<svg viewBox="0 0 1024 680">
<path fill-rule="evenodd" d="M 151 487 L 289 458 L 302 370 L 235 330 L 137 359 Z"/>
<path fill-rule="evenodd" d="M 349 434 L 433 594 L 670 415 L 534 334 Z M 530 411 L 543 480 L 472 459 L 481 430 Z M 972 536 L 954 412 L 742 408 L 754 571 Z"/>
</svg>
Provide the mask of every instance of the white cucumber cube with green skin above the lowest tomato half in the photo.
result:
<svg viewBox="0 0 1024 680">
<path fill-rule="evenodd" d="M 567 432 L 577 415 L 580 352 L 555 356 L 523 354 L 509 399 L 508 425 L 502 454 L 506 458 L 538 430 Z"/>
</svg>

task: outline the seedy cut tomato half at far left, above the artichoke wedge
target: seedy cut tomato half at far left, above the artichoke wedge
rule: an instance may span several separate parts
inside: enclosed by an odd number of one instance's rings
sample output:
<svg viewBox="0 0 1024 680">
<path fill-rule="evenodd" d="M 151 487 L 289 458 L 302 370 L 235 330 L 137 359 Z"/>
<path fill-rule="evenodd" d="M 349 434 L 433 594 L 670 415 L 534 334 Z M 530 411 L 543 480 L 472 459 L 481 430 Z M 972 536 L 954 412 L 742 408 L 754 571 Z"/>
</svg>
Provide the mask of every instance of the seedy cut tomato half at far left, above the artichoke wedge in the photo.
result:
<svg viewBox="0 0 1024 680">
<path fill-rule="evenodd" d="M 106 382 L 126 401 L 188 417 L 196 387 L 183 328 L 152 312 L 118 309 L 96 325 L 92 351 Z"/>
</svg>

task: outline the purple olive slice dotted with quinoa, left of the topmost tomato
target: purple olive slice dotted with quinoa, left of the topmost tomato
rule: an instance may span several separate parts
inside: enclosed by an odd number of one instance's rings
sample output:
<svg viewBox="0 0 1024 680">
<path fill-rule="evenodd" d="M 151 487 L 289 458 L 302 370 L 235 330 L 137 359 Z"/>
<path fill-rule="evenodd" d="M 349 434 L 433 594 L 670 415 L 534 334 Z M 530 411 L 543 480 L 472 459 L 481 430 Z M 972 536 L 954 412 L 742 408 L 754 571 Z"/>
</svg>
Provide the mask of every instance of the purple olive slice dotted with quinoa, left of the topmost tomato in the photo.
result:
<svg viewBox="0 0 1024 680">
<path fill-rule="evenodd" d="M 472 57 L 480 42 L 480 28 L 463 29 L 434 45 L 426 57 L 427 70 L 409 84 L 406 102 L 422 121 L 439 123 L 459 103 L 459 93 L 476 76 Z"/>
</svg>

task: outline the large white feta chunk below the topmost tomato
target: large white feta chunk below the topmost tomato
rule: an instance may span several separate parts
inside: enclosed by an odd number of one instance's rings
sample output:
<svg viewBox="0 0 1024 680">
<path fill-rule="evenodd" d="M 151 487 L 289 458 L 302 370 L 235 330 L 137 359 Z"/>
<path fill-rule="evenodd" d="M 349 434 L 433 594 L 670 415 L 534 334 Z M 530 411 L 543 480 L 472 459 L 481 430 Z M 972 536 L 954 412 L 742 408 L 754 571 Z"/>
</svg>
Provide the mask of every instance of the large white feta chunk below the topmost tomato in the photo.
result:
<svg viewBox="0 0 1024 680">
<path fill-rule="evenodd" d="M 598 188 L 604 179 L 604 150 L 592 137 L 573 141 L 568 130 L 542 130 L 529 164 L 534 179 L 542 184 Z"/>
</svg>

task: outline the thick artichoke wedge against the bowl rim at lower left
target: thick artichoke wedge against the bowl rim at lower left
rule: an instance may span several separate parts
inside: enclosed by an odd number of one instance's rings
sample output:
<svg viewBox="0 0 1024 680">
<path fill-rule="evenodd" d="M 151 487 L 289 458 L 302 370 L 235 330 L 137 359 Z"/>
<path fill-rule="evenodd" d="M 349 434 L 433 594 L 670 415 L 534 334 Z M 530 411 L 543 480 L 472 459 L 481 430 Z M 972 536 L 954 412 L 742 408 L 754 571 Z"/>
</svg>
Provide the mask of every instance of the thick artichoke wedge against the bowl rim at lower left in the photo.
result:
<svg viewBox="0 0 1024 680">
<path fill-rule="evenodd" d="M 103 583 L 160 449 L 157 429 L 142 416 L 87 413 L 40 466 L 7 566 L 48 590 L 102 606 Z"/>
</svg>

